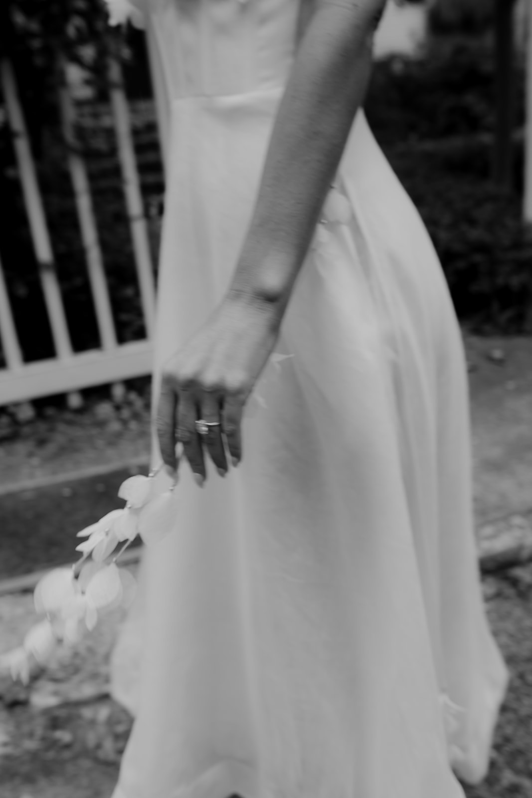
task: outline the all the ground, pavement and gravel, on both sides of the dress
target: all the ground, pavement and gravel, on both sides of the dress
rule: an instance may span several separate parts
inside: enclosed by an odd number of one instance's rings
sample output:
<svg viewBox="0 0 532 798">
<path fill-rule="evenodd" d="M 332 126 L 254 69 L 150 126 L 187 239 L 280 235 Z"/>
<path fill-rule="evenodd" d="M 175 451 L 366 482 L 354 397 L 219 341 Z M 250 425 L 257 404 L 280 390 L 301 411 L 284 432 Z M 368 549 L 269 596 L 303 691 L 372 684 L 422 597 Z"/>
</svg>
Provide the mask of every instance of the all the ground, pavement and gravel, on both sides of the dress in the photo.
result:
<svg viewBox="0 0 532 798">
<path fill-rule="evenodd" d="M 466 343 L 475 511 L 482 531 L 493 519 L 527 516 L 532 509 L 532 339 L 467 337 Z M 102 402 L 97 397 L 78 414 L 28 421 L 23 429 L 29 432 L 5 441 L 0 473 L 5 481 L 26 484 L 22 492 L 0 496 L 2 537 L 5 529 L 9 541 L 0 563 L 10 552 L 13 558 L 3 575 L 21 572 L 28 562 L 42 567 L 65 557 L 73 543 L 69 531 L 116 506 L 127 463 L 136 470 L 148 459 L 147 401 L 141 408 L 129 397 L 104 409 Z M 136 429 L 128 428 L 130 421 Z M 31 481 L 47 472 L 72 477 L 73 469 L 102 459 L 110 468 L 120 461 L 122 469 L 81 481 L 60 477 L 47 488 Z M 484 575 L 483 589 L 511 681 L 489 776 L 466 792 L 468 798 L 532 798 L 532 563 Z M 73 658 L 57 658 L 29 688 L 0 681 L 1 798 L 109 798 L 131 725 L 128 713 L 108 697 L 108 656 L 123 612 L 104 618 Z M 33 620 L 30 593 L 0 595 L 0 650 L 20 642 Z"/>
</svg>

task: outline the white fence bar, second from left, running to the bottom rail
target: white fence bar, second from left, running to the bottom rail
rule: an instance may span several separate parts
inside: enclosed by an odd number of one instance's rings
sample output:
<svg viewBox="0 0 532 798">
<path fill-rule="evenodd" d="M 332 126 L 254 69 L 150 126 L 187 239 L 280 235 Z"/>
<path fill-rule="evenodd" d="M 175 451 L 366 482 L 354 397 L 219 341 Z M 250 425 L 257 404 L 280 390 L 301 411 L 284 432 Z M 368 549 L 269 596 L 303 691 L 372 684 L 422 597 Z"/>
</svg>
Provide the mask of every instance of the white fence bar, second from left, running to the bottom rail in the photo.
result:
<svg viewBox="0 0 532 798">
<path fill-rule="evenodd" d="M 70 345 L 69 329 L 66 324 L 61 290 L 53 266 L 52 245 L 49 239 L 48 227 L 46 226 L 41 192 L 37 184 L 37 172 L 33 163 L 22 107 L 18 100 L 14 71 L 10 61 L 5 58 L 0 63 L 0 73 L 2 89 L 6 98 L 7 116 L 14 140 L 22 193 L 30 222 L 33 249 L 39 266 L 39 276 L 52 330 L 53 344 L 59 358 L 69 358 L 72 354 L 72 346 Z"/>
</svg>

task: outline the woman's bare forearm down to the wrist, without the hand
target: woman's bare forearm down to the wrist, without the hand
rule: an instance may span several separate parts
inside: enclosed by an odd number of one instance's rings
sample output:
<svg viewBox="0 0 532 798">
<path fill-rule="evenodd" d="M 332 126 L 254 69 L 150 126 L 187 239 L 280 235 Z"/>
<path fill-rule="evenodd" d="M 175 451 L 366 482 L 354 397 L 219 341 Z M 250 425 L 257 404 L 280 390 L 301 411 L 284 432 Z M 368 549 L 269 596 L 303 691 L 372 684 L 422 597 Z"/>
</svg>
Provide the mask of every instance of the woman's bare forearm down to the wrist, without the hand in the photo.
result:
<svg viewBox="0 0 532 798">
<path fill-rule="evenodd" d="M 278 110 L 230 295 L 280 322 L 353 118 L 380 0 L 318 0 Z"/>
</svg>

